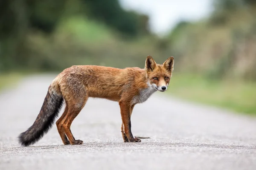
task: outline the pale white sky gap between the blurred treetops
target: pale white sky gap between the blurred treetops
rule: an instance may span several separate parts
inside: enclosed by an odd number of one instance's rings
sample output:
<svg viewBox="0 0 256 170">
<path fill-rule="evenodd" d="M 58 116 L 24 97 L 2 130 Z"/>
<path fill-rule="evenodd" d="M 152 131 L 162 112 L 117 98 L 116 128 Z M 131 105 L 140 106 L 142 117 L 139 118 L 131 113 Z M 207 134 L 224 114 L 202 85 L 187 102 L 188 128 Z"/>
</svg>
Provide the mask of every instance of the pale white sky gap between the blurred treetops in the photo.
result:
<svg viewBox="0 0 256 170">
<path fill-rule="evenodd" d="M 163 35 L 180 20 L 195 21 L 212 11 L 212 0 L 119 0 L 121 6 L 147 14 L 151 31 Z"/>
</svg>

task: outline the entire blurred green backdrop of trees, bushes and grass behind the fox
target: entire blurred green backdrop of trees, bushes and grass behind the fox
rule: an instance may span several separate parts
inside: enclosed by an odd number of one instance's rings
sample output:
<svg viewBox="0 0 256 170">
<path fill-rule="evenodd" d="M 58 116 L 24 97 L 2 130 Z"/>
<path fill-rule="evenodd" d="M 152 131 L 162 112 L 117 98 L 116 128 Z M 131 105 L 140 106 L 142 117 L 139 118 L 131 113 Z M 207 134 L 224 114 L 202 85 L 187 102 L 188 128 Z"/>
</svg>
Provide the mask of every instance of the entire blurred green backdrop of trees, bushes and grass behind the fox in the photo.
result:
<svg viewBox="0 0 256 170">
<path fill-rule="evenodd" d="M 72 65 L 143 68 L 147 55 L 157 63 L 174 56 L 167 95 L 256 115 L 256 1 L 210 3 L 208 15 L 177 18 L 158 34 L 148 14 L 118 0 L 2 0 L 0 88 Z"/>
</svg>

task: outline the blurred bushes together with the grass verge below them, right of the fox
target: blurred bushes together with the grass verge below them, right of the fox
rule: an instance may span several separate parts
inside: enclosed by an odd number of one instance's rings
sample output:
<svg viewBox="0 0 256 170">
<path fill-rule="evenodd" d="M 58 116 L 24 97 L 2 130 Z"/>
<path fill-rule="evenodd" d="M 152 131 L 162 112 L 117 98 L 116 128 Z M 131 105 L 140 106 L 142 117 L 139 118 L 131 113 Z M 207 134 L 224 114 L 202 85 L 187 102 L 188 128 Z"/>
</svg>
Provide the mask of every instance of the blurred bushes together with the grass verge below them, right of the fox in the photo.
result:
<svg viewBox="0 0 256 170">
<path fill-rule="evenodd" d="M 215 0 L 212 15 L 169 34 L 170 94 L 256 115 L 256 1 Z"/>
</svg>

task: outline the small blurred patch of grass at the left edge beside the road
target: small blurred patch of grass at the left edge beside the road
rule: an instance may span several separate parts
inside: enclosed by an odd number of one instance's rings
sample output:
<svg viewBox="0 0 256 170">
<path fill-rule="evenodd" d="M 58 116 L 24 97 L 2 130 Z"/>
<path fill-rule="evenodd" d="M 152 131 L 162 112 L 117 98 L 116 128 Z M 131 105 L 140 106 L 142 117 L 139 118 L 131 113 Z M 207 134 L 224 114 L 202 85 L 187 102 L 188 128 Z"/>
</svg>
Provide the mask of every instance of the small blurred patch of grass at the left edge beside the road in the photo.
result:
<svg viewBox="0 0 256 170">
<path fill-rule="evenodd" d="M 2 91 L 5 88 L 15 86 L 15 84 L 17 84 L 17 82 L 19 82 L 23 76 L 23 74 L 17 72 L 0 74 L 0 91 Z"/>
</svg>

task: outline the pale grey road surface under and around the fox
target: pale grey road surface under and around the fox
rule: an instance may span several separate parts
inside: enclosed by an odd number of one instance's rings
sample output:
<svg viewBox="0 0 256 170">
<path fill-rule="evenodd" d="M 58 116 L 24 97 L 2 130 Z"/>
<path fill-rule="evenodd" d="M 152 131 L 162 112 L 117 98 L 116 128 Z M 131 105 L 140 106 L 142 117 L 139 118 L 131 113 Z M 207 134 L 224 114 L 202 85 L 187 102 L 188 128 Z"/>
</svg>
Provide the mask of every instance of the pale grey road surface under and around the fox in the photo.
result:
<svg viewBox="0 0 256 170">
<path fill-rule="evenodd" d="M 17 136 L 34 122 L 54 77 L 30 76 L 1 92 L 0 170 L 256 170 L 255 118 L 161 92 L 134 108 L 134 136 L 150 136 L 141 143 L 122 142 L 118 102 L 90 98 L 71 126 L 84 144 L 63 145 L 54 125 L 21 147 Z"/>
</svg>

